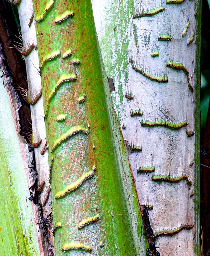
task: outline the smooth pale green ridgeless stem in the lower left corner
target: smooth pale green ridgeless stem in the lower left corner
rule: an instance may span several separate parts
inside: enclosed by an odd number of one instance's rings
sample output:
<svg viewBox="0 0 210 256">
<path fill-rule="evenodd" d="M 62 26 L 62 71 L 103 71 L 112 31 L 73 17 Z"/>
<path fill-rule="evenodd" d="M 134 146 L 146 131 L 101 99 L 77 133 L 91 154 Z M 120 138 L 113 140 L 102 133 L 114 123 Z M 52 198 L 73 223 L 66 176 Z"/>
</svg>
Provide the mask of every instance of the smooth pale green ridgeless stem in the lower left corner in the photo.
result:
<svg viewBox="0 0 210 256">
<path fill-rule="evenodd" d="M 0 94 L 0 255 L 40 255 L 31 201 L 6 88 Z"/>
</svg>

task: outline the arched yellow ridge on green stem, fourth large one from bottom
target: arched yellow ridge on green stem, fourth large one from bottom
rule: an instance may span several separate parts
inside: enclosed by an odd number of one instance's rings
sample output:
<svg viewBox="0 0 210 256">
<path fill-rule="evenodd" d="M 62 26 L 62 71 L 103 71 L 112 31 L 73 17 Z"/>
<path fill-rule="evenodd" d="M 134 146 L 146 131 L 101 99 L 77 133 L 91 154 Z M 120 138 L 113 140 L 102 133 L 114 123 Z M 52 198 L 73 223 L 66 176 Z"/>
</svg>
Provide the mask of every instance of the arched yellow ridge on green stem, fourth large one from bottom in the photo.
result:
<svg viewBox="0 0 210 256">
<path fill-rule="evenodd" d="M 89 129 L 86 127 L 83 127 L 81 125 L 76 125 L 76 126 L 70 128 L 66 133 L 62 134 L 60 136 L 60 138 L 58 138 L 54 141 L 51 152 L 53 152 L 55 150 L 55 148 L 57 148 L 65 140 L 69 139 L 72 135 L 80 133 L 80 132 L 89 134 Z"/>
</svg>

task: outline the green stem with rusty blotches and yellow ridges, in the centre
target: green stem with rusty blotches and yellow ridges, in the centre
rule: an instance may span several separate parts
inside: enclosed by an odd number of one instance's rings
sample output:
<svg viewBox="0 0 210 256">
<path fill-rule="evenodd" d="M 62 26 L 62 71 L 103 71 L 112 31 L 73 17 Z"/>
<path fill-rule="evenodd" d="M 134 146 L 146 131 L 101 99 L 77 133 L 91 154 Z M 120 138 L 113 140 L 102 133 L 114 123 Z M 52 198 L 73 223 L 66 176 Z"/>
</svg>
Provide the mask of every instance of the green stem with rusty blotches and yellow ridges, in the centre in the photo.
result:
<svg viewBox="0 0 210 256">
<path fill-rule="evenodd" d="M 33 4 L 53 223 L 62 225 L 54 230 L 56 256 L 136 255 L 117 178 L 90 1 Z M 59 115 L 65 120 L 58 122 Z M 81 221 L 88 223 L 78 229 Z"/>
</svg>

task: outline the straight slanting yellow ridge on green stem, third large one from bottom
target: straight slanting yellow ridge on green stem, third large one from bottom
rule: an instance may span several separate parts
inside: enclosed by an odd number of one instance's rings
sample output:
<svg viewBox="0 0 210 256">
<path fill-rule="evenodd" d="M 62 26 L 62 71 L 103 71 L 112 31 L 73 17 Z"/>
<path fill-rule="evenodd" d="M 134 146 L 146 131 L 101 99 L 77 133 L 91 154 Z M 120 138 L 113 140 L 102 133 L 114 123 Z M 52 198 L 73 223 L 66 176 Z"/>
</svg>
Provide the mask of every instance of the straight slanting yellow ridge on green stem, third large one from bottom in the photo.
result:
<svg viewBox="0 0 210 256">
<path fill-rule="evenodd" d="M 94 174 L 95 173 L 92 170 L 87 173 L 83 173 L 82 176 L 77 181 L 68 185 L 64 190 L 58 191 L 55 195 L 55 198 L 58 199 L 66 196 L 68 193 L 78 188 L 84 181 L 91 178 Z"/>
</svg>

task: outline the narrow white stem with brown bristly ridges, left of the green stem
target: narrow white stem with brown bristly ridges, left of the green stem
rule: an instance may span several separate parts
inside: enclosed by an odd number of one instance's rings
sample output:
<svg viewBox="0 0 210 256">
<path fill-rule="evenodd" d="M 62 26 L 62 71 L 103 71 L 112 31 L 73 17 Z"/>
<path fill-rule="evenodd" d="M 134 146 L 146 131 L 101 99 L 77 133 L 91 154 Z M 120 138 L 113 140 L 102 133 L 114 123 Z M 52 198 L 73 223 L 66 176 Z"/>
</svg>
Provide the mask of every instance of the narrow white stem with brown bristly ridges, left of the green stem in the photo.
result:
<svg viewBox="0 0 210 256">
<path fill-rule="evenodd" d="M 32 0 L 22 0 L 18 6 L 18 13 L 23 43 L 21 53 L 26 62 L 28 82 L 28 90 L 21 89 L 24 99 L 31 105 L 33 133 L 30 137 L 30 143 L 34 148 L 34 164 L 36 164 L 34 169 L 36 169 L 37 172 L 37 175 L 34 177 L 36 187 L 31 188 L 31 192 L 35 193 L 37 197 L 37 202 L 35 202 L 36 205 L 34 207 L 34 209 L 36 209 L 34 216 L 36 222 L 40 225 L 37 232 L 38 235 L 42 237 L 40 246 L 43 247 L 43 251 L 41 250 L 41 255 L 51 256 L 53 248 L 50 244 L 54 244 L 54 237 L 52 234 L 51 193 L 50 184 L 48 182 L 49 165 Z"/>
</svg>

